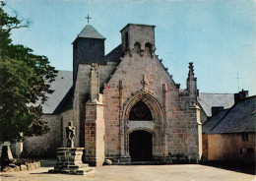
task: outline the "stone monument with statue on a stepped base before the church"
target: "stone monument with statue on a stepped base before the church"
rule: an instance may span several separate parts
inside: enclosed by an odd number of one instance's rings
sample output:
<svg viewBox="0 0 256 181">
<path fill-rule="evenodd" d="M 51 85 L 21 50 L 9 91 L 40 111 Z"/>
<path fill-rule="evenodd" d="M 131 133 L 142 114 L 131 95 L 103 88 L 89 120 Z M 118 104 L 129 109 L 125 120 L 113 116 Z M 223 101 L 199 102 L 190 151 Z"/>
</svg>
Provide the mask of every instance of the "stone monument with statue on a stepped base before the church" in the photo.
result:
<svg viewBox="0 0 256 181">
<path fill-rule="evenodd" d="M 67 148 L 57 149 L 57 164 L 48 172 L 84 175 L 85 172 L 92 171 L 93 168 L 82 161 L 85 148 L 74 148 L 75 127 L 72 121 L 66 127 L 66 136 Z"/>
</svg>

